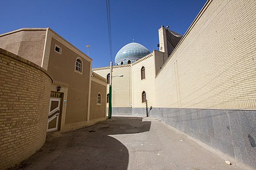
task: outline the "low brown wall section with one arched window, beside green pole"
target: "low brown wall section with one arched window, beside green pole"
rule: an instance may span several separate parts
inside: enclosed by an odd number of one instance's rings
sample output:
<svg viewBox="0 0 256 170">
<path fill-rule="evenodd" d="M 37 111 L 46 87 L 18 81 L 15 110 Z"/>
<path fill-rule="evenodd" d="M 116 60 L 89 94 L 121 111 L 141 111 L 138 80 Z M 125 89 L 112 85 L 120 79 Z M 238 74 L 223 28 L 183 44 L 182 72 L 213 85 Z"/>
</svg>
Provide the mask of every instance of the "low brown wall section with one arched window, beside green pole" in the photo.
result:
<svg viewBox="0 0 256 170">
<path fill-rule="evenodd" d="M 97 104 L 97 95 L 101 94 L 101 104 Z M 90 120 L 106 117 L 106 83 L 92 79 L 90 93 Z"/>
</svg>

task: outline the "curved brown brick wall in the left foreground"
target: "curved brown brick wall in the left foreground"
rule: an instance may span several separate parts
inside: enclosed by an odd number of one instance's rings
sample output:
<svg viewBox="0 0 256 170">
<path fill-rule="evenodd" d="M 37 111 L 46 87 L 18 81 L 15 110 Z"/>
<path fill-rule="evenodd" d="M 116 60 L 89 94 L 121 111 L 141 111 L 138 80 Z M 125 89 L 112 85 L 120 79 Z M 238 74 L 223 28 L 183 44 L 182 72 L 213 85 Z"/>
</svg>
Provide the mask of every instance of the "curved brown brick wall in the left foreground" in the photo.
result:
<svg viewBox="0 0 256 170">
<path fill-rule="evenodd" d="M 44 69 L 0 49 L 0 169 L 43 146 L 51 84 Z"/>
</svg>

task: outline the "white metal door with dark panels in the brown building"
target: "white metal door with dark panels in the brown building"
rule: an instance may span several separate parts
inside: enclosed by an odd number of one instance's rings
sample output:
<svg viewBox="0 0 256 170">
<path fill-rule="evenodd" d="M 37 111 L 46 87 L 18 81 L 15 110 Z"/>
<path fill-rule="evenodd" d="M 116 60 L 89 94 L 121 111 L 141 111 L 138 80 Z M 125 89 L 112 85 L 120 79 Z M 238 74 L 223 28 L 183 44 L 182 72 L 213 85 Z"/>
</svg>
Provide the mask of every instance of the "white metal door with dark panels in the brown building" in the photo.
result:
<svg viewBox="0 0 256 170">
<path fill-rule="evenodd" d="M 59 128 L 60 101 L 61 101 L 60 98 L 50 99 L 47 132 L 55 131 L 55 130 L 58 130 Z"/>
</svg>

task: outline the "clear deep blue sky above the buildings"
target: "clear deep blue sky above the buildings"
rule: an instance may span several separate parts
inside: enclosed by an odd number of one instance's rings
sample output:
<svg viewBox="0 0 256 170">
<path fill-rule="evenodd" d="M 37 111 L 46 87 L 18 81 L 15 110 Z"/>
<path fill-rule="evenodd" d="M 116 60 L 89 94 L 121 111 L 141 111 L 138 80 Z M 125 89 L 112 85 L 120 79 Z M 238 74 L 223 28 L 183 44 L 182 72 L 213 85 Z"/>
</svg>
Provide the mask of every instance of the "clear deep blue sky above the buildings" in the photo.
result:
<svg viewBox="0 0 256 170">
<path fill-rule="evenodd" d="M 138 42 L 152 52 L 161 25 L 184 35 L 207 0 L 110 0 L 113 60 L 122 46 Z M 87 54 L 94 67 L 109 66 L 105 0 L 0 0 L 0 34 L 50 27 Z"/>
</svg>

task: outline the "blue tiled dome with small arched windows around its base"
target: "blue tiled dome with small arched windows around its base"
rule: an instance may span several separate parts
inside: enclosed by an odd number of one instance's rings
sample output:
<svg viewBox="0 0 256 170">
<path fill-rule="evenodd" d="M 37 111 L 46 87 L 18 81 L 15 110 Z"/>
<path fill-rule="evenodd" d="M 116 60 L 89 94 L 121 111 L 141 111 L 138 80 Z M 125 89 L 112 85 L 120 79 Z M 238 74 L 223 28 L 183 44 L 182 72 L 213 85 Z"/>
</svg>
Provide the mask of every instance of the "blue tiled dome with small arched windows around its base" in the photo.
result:
<svg viewBox="0 0 256 170">
<path fill-rule="evenodd" d="M 135 62 L 137 59 L 141 59 L 147 56 L 150 51 L 141 44 L 136 42 L 131 42 L 123 48 L 121 48 L 117 55 L 115 56 L 115 65 L 127 64 L 128 61 L 131 63 Z"/>
</svg>

